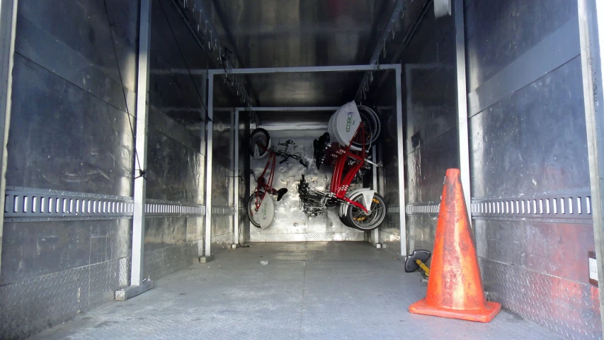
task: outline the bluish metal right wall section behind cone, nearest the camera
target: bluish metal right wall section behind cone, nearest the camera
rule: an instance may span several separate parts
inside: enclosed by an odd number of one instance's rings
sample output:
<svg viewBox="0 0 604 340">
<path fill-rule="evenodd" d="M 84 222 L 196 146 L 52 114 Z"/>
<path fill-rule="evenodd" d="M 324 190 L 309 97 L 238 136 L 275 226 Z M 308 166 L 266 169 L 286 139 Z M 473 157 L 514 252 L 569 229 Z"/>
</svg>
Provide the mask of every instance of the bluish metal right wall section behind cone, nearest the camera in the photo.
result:
<svg viewBox="0 0 604 340">
<path fill-rule="evenodd" d="M 465 1 L 465 21 L 485 289 L 566 338 L 601 339 L 598 289 L 588 283 L 594 240 L 577 3 Z"/>
</svg>

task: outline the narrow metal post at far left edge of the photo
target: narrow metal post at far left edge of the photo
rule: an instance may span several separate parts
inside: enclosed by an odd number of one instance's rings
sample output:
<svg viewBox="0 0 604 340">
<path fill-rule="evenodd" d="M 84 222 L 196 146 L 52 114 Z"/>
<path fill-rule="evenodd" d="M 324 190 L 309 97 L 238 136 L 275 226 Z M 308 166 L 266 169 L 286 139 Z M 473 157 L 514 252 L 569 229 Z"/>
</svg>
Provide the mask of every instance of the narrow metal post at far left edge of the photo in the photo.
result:
<svg viewBox="0 0 604 340">
<path fill-rule="evenodd" d="M 0 0 L 0 206 L 4 207 L 6 192 L 6 165 L 8 157 L 6 144 L 11 125 L 11 94 L 13 90 L 13 58 L 15 55 L 15 31 L 18 0 Z M 4 209 L 0 213 L 0 259 L 2 254 L 2 233 Z"/>
</svg>

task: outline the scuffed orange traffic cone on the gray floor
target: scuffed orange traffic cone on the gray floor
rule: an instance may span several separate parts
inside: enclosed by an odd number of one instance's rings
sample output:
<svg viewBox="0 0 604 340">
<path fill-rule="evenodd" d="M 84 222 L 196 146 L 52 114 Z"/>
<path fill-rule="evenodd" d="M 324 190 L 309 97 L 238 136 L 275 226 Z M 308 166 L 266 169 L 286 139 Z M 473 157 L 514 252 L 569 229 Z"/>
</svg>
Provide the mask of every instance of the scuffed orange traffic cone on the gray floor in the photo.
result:
<svg viewBox="0 0 604 340">
<path fill-rule="evenodd" d="M 425 299 L 409 306 L 409 312 L 489 322 L 500 310 L 500 303 L 484 298 L 460 171 L 448 169 L 436 225 L 428 293 Z"/>
</svg>

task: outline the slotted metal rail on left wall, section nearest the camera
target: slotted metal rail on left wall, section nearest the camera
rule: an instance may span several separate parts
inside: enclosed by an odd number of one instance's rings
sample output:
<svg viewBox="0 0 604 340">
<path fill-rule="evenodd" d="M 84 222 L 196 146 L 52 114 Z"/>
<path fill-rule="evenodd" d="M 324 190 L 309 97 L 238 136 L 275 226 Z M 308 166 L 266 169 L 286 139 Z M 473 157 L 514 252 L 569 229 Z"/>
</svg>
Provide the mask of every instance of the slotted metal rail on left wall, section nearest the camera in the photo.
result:
<svg viewBox="0 0 604 340">
<path fill-rule="evenodd" d="M 130 197 L 7 186 L 6 222 L 131 218 Z"/>
</svg>

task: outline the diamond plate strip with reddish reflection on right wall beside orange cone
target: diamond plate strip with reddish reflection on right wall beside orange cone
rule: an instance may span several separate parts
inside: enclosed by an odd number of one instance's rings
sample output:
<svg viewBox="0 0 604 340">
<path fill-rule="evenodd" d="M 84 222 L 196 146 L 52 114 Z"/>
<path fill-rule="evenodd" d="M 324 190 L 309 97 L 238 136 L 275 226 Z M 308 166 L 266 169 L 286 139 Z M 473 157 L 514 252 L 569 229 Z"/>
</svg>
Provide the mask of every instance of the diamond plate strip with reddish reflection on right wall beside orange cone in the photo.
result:
<svg viewBox="0 0 604 340">
<path fill-rule="evenodd" d="M 479 262 L 490 300 L 568 339 L 602 339 L 598 288 L 482 258 Z"/>
</svg>

